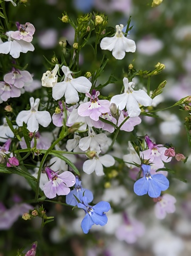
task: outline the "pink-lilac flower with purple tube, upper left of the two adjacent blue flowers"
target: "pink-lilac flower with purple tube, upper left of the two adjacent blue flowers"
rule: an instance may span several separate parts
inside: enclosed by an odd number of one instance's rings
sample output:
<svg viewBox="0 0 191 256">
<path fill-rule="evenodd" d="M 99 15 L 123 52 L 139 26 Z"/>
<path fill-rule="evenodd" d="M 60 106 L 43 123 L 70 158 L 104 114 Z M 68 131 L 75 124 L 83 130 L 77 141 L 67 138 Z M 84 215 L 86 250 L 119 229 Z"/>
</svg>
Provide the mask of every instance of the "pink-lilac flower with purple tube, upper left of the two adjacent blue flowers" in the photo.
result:
<svg viewBox="0 0 191 256">
<path fill-rule="evenodd" d="M 46 174 L 49 181 L 44 185 L 43 191 L 47 198 L 54 198 L 56 194 L 58 196 L 68 195 L 70 192 L 69 187 L 72 187 L 76 183 L 76 177 L 71 173 L 63 172 L 54 172 L 49 167 L 45 167 Z"/>
</svg>

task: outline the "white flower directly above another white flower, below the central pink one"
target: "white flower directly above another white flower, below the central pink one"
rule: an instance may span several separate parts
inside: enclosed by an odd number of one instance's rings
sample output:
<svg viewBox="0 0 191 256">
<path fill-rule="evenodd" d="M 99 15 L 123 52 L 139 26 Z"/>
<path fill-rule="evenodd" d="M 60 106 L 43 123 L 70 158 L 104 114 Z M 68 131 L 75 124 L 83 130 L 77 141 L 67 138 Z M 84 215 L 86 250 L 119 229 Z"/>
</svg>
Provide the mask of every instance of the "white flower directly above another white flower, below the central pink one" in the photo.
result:
<svg viewBox="0 0 191 256">
<path fill-rule="evenodd" d="M 86 150 L 100 150 L 100 145 L 107 143 L 107 136 L 104 133 L 95 134 L 93 128 L 88 127 L 88 136 L 81 138 L 79 141 L 79 148 L 83 151 Z"/>
</svg>

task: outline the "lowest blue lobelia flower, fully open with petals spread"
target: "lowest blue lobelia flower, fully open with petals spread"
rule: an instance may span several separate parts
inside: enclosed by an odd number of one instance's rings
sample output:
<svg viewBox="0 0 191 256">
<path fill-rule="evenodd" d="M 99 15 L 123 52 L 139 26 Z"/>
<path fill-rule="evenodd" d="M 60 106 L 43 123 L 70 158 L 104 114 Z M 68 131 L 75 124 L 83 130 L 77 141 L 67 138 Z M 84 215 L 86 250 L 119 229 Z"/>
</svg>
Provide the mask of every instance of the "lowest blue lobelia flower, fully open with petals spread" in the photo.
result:
<svg viewBox="0 0 191 256">
<path fill-rule="evenodd" d="M 87 203 L 87 197 L 82 198 L 82 203 L 78 203 L 78 208 L 84 209 L 86 216 L 81 222 L 81 228 L 85 234 L 89 232 L 94 224 L 104 226 L 107 223 L 107 216 L 104 212 L 108 212 L 111 209 L 109 203 L 100 201 L 94 206 L 90 206 Z"/>
</svg>

